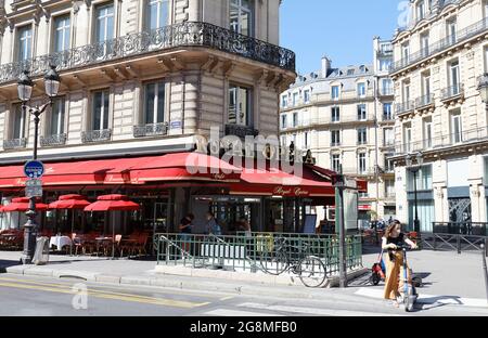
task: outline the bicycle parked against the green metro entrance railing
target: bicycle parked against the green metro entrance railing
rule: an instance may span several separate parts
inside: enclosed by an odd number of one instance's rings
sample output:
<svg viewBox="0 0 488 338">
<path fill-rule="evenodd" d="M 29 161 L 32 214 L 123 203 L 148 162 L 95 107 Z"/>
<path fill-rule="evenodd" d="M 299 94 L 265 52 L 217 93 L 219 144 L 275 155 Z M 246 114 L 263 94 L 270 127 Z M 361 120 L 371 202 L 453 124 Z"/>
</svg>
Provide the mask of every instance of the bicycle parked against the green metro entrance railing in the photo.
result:
<svg viewBox="0 0 488 338">
<path fill-rule="evenodd" d="M 281 275 L 288 271 L 297 275 L 306 287 L 318 288 L 326 278 L 325 264 L 320 258 L 308 255 L 309 244 L 293 246 L 285 238 L 274 242 L 274 250 L 264 248 L 260 263 L 262 270 L 271 275 Z"/>
</svg>

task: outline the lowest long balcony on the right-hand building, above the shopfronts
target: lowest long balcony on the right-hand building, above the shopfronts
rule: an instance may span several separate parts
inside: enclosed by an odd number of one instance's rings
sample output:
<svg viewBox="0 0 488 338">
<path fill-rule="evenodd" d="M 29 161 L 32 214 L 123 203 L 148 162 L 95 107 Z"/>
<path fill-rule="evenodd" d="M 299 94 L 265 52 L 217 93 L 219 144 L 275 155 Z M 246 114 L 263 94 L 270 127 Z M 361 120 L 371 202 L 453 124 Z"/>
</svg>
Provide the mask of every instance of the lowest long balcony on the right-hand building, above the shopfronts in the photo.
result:
<svg viewBox="0 0 488 338">
<path fill-rule="evenodd" d="M 396 143 L 395 156 L 427 151 L 435 152 L 449 147 L 461 148 L 463 145 L 471 145 L 473 143 L 486 141 L 488 141 L 488 127 L 480 127 L 476 129 L 463 130 L 459 133 L 444 134 L 410 143 Z"/>
</svg>

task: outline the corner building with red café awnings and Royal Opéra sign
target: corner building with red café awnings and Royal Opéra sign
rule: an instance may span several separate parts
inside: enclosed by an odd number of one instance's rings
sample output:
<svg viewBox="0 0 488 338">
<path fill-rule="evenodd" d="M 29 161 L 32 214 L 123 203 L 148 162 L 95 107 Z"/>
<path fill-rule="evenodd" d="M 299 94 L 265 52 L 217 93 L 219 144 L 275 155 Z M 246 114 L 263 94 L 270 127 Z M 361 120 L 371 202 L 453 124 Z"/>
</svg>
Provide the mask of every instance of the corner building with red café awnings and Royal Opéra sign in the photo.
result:
<svg viewBox="0 0 488 338">
<path fill-rule="evenodd" d="M 39 128 L 44 203 L 66 194 L 91 202 L 128 195 L 141 208 L 114 222 L 124 234 L 178 232 L 189 211 L 202 232 L 208 210 L 228 229 L 246 218 L 254 231 L 299 231 L 306 206 L 334 204 L 333 172 L 309 165 L 300 178 L 269 168 L 254 174 L 208 156 L 208 143 L 201 142 L 214 127 L 220 138 L 278 135 L 279 95 L 296 78 L 295 54 L 279 47 L 280 4 L 0 1 L 2 204 L 24 196 L 23 165 L 35 144 L 35 125 L 17 99 L 18 78 L 26 72 L 34 81 L 29 105 L 36 106 L 46 99 L 42 77 L 54 67 L 60 93 Z M 25 220 L 0 216 L 3 229 Z M 67 233 L 59 226 L 66 213 L 38 218 L 41 230 Z M 75 230 L 106 232 L 107 223 L 90 213 L 76 219 L 81 229 Z"/>
</svg>

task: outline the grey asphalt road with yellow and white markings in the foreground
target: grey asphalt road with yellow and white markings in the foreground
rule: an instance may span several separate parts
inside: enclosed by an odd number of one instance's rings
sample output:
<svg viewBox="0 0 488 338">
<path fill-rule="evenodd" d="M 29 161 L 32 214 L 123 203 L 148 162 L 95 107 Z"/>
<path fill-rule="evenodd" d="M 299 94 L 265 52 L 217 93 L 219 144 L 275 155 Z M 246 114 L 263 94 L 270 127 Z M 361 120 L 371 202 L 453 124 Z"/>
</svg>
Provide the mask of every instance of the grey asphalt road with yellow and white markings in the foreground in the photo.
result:
<svg viewBox="0 0 488 338">
<path fill-rule="evenodd" d="M 0 316 L 381 316 L 406 314 L 402 310 L 374 298 L 374 295 L 349 294 L 348 297 L 356 297 L 355 301 L 351 301 L 350 298 L 341 300 L 341 290 L 337 289 L 324 290 L 324 292 L 331 292 L 330 300 L 235 296 L 215 291 L 131 287 L 87 283 L 79 280 L 0 274 Z M 84 295 L 88 296 L 85 298 Z M 438 307 L 420 304 L 418 311 L 409 315 L 471 316 L 474 314 L 488 315 L 488 311 L 455 304 Z"/>
</svg>

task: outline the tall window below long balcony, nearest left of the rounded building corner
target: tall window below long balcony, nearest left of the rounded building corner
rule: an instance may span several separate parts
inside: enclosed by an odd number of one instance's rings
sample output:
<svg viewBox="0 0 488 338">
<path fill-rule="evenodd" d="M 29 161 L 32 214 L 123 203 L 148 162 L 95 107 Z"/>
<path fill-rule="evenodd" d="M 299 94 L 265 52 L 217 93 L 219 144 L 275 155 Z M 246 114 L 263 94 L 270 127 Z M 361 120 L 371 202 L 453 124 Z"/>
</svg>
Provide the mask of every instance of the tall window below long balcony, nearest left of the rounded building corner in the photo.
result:
<svg viewBox="0 0 488 338">
<path fill-rule="evenodd" d="M 157 125 L 165 121 L 166 88 L 164 81 L 144 86 L 144 123 Z"/>
</svg>

